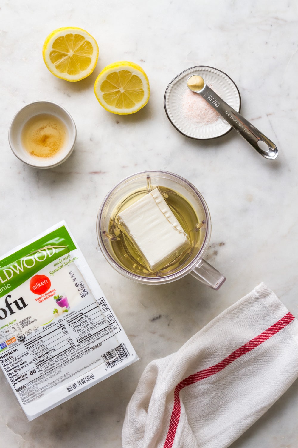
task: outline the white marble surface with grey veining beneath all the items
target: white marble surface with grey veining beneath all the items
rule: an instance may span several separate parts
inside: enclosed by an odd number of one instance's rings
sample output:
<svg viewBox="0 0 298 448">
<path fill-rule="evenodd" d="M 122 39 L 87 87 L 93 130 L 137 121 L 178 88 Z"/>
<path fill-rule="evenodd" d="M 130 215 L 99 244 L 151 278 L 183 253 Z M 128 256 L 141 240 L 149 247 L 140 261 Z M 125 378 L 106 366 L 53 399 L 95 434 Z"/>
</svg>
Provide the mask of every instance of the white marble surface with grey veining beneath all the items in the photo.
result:
<svg viewBox="0 0 298 448">
<path fill-rule="evenodd" d="M 1 253 L 65 219 L 140 360 L 32 422 L 0 372 L 0 447 L 121 447 L 126 405 L 152 359 L 176 351 L 261 281 L 298 315 L 297 22 L 294 1 L 2 2 Z M 97 67 L 83 81 L 55 78 L 43 63 L 43 41 L 61 26 L 97 39 Z M 117 60 L 138 63 L 150 81 L 147 106 L 131 116 L 106 112 L 93 93 L 98 73 Z M 277 160 L 262 158 L 233 130 L 200 142 L 172 127 L 164 91 L 194 65 L 234 80 L 241 112 L 276 143 Z M 50 170 L 21 163 L 8 145 L 13 115 L 38 99 L 60 103 L 77 126 L 71 157 Z M 176 172 L 206 199 L 206 259 L 227 277 L 217 292 L 192 276 L 156 287 L 133 283 L 96 251 L 105 194 L 146 169 Z M 296 381 L 232 447 L 297 447 L 297 401 Z"/>
</svg>

